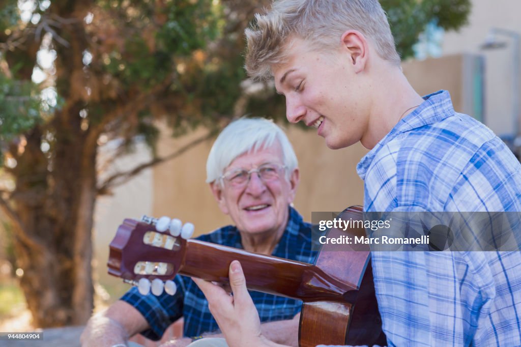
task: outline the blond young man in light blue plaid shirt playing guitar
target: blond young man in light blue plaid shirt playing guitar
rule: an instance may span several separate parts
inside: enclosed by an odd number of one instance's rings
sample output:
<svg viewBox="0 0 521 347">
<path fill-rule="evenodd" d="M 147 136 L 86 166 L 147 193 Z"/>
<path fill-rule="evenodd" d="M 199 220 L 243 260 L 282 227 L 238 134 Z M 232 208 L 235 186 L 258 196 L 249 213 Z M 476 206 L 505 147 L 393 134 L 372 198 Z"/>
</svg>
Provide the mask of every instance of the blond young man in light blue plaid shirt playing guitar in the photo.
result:
<svg viewBox="0 0 521 347">
<path fill-rule="evenodd" d="M 246 36 L 246 69 L 275 78 L 290 121 L 316 127 L 330 148 L 360 141 L 370 150 L 357 166 L 366 212 L 521 211 L 519 162 L 488 128 L 456 113 L 448 92 L 414 91 L 377 0 L 276 1 Z M 520 252 L 372 259 L 389 345 L 521 345 Z M 240 264 L 230 281 L 233 299 L 196 280 L 228 344 L 277 345 L 259 329 Z"/>
</svg>

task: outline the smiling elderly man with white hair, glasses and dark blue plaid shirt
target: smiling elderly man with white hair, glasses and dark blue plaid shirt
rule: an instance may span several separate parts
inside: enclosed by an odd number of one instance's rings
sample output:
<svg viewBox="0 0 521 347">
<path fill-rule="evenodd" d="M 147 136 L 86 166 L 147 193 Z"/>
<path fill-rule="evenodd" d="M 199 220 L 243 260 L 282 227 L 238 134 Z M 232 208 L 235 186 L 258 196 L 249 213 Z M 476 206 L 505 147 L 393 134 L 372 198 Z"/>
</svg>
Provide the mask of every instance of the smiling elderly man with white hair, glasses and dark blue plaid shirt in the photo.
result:
<svg viewBox="0 0 521 347">
<path fill-rule="evenodd" d="M 242 118 L 228 125 L 215 141 L 206 164 L 207 182 L 234 226 L 197 239 L 312 263 L 310 225 L 291 207 L 299 184 L 297 159 L 288 138 L 272 121 Z M 165 329 L 184 317 L 185 338 L 167 343 L 185 346 L 218 329 L 203 293 L 192 279 L 177 276 L 171 296 L 142 295 L 132 288 L 103 314 L 93 316 L 82 334 L 83 346 L 125 346 L 142 333 L 158 340 Z M 271 340 L 297 344 L 301 303 L 271 294 L 251 292 Z M 294 318 L 295 317 L 295 318 Z M 294 319 L 292 319 L 294 318 Z M 283 320 L 283 321 L 281 321 Z"/>
</svg>

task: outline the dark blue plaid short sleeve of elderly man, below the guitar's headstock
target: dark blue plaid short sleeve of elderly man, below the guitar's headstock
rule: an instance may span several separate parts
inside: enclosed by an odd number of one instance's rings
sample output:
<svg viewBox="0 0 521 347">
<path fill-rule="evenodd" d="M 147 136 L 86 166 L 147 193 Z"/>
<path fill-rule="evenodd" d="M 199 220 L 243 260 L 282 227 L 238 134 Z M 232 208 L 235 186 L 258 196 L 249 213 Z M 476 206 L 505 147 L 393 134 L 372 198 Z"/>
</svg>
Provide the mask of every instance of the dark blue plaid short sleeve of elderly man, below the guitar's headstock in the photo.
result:
<svg viewBox="0 0 521 347">
<path fill-rule="evenodd" d="M 159 296 L 152 293 L 142 295 L 132 287 L 120 300 L 134 306 L 146 319 L 149 329 L 141 334 L 151 340 L 160 340 L 165 330 L 183 315 L 184 282 L 180 276 L 174 278 L 177 291 L 174 295 L 165 292 Z"/>
</svg>

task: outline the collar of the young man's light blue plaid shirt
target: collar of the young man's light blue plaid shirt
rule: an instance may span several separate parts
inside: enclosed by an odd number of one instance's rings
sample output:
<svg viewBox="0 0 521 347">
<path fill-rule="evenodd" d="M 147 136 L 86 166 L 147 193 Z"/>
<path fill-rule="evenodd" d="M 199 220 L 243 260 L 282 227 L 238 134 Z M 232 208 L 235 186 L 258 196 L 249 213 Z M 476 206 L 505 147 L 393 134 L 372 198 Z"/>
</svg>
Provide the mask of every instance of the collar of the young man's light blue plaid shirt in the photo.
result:
<svg viewBox="0 0 521 347">
<path fill-rule="evenodd" d="M 398 135 L 431 125 L 439 122 L 447 117 L 454 115 L 454 107 L 452 106 L 451 96 L 448 91 L 440 90 L 423 97 L 424 102 L 421 103 L 414 111 L 401 119 L 391 131 L 381 139 L 376 146 L 370 150 L 356 165 L 358 176 L 364 180 L 367 170 L 369 169 L 373 159 L 380 149 L 389 141 L 398 137 Z"/>
</svg>

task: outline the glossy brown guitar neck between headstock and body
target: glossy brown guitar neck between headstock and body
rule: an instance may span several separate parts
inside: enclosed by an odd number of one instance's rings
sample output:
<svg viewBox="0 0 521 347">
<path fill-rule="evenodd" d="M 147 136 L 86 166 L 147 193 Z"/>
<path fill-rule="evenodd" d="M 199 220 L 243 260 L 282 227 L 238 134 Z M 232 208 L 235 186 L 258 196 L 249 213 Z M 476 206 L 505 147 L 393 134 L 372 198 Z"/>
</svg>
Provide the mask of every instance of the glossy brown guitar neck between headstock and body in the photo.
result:
<svg viewBox="0 0 521 347">
<path fill-rule="evenodd" d="M 344 302 L 343 294 L 354 289 L 312 264 L 198 240 L 187 241 L 179 274 L 228 282 L 228 269 L 234 260 L 241 262 L 247 287 L 251 290 L 303 301 Z"/>
</svg>

